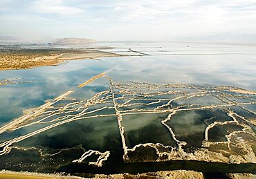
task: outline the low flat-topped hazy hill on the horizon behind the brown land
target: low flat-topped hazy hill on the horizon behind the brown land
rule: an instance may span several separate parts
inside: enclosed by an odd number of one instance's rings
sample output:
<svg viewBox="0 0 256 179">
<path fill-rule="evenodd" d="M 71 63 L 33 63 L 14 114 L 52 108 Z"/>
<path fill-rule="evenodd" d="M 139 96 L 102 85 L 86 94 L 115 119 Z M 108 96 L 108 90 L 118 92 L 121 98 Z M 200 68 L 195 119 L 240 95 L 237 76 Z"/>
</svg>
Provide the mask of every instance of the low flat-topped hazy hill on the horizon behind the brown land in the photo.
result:
<svg viewBox="0 0 256 179">
<path fill-rule="evenodd" d="M 82 38 L 62 38 L 62 39 L 53 39 L 53 45 L 86 45 L 86 44 L 95 44 L 94 39 L 82 39 Z"/>
</svg>

